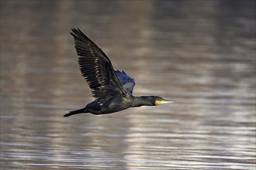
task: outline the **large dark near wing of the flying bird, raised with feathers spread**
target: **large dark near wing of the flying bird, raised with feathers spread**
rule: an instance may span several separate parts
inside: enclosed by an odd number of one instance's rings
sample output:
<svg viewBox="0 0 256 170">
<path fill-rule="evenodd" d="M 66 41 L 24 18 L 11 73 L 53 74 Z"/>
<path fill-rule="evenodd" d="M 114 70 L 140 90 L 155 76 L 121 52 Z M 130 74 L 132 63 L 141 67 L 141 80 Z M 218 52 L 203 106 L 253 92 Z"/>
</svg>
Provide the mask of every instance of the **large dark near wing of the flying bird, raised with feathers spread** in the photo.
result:
<svg viewBox="0 0 256 170">
<path fill-rule="evenodd" d="M 104 98 L 116 93 L 126 96 L 126 91 L 119 82 L 110 59 L 102 49 L 88 39 L 80 29 L 72 29 L 71 35 L 74 36 L 81 74 L 92 89 L 92 96 Z"/>
</svg>

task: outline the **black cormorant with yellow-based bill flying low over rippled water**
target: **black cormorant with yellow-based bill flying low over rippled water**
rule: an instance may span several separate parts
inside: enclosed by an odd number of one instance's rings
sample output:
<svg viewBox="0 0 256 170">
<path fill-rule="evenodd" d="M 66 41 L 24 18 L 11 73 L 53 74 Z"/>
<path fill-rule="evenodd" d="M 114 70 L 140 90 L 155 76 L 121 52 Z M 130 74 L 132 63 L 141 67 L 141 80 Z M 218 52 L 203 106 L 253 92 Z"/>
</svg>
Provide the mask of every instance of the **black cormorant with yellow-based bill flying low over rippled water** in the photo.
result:
<svg viewBox="0 0 256 170">
<path fill-rule="evenodd" d="M 85 108 L 70 111 L 64 117 L 73 114 L 110 114 L 129 107 L 155 106 L 173 103 L 156 96 L 133 96 L 134 80 L 124 71 L 114 70 L 109 58 L 80 29 L 72 29 L 75 49 L 81 74 L 92 90 L 95 100 Z"/>
</svg>

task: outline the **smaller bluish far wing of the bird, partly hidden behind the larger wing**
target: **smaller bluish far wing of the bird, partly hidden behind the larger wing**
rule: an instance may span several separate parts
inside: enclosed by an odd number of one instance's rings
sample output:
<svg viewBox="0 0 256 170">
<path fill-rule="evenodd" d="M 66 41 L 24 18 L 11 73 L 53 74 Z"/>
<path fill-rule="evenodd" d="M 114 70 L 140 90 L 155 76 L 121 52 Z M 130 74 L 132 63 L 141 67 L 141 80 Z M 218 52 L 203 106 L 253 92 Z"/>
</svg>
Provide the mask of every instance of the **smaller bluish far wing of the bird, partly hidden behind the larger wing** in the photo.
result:
<svg viewBox="0 0 256 170">
<path fill-rule="evenodd" d="M 120 72 L 119 70 L 116 70 L 115 72 L 124 90 L 130 94 L 133 94 L 133 87 L 135 86 L 134 79 L 128 76 L 128 74 L 126 74 L 124 71 Z"/>
</svg>

